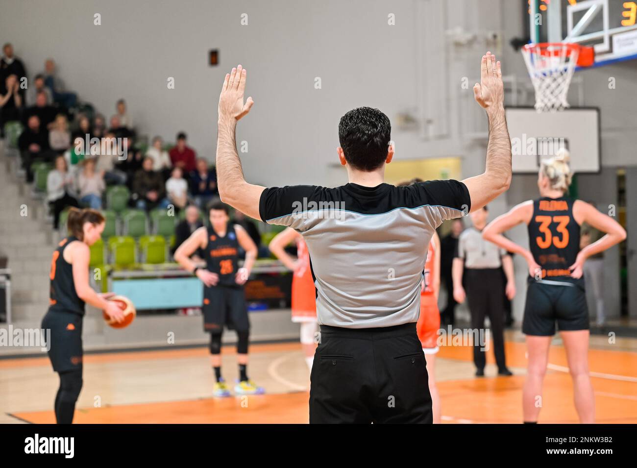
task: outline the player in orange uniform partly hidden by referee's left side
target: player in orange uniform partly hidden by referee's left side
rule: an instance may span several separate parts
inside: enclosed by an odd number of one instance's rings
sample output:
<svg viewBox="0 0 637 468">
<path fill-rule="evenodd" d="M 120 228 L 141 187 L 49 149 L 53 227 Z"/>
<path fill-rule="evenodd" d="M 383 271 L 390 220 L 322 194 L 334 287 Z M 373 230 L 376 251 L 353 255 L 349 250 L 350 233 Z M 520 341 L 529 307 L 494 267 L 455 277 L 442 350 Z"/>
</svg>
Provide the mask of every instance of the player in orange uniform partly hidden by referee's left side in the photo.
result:
<svg viewBox="0 0 637 468">
<path fill-rule="evenodd" d="M 297 259 L 285 252 L 285 246 L 296 241 Z M 316 350 L 315 334 L 318 331 L 316 289 L 312 279 L 310 253 L 303 236 L 291 227 L 282 230 L 270 241 L 270 252 L 283 265 L 294 272 L 292 277 L 292 322 L 301 323 L 301 346 L 310 372 Z"/>
</svg>

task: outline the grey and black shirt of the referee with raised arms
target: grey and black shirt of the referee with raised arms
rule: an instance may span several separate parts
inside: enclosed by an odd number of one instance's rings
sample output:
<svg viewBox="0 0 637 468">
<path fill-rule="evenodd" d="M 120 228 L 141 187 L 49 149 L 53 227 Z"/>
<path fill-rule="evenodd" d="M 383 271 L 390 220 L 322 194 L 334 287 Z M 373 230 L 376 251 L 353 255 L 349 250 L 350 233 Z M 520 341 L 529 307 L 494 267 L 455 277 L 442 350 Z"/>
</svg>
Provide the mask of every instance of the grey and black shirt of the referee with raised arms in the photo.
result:
<svg viewBox="0 0 637 468">
<path fill-rule="evenodd" d="M 426 246 L 436 227 L 470 207 L 464 183 L 433 180 L 408 187 L 271 187 L 259 213 L 303 235 L 318 323 L 356 329 L 417 322 Z"/>
</svg>

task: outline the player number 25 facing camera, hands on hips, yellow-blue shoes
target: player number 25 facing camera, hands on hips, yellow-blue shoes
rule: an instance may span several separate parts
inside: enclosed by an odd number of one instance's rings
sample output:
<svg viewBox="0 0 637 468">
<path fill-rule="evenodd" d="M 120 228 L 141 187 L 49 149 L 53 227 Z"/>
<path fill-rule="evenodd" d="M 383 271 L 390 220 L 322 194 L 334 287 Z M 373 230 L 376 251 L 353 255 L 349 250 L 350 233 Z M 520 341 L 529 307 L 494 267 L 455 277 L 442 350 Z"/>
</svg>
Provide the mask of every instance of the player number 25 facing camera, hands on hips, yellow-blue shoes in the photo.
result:
<svg viewBox="0 0 637 468">
<path fill-rule="evenodd" d="M 239 268 L 238 249 L 245 250 L 245 262 Z M 206 253 L 206 267 L 202 268 L 190 259 L 201 248 Z M 264 393 L 264 389 L 248 378 L 248 341 L 250 321 L 245 303 L 243 285 L 250 276 L 257 246 L 240 225 L 230 223 L 227 205 L 213 202 L 210 205 L 210 227 L 200 227 L 175 252 L 175 260 L 184 269 L 194 273 L 204 283 L 204 299 L 201 310 L 204 331 L 210 333 L 210 362 L 215 371 L 216 383 L 213 396 L 229 397 L 230 390 L 221 375 L 221 337 L 224 325 L 235 330 L 239 381 L 234 392 L 239 395 Z"/>
</svg>

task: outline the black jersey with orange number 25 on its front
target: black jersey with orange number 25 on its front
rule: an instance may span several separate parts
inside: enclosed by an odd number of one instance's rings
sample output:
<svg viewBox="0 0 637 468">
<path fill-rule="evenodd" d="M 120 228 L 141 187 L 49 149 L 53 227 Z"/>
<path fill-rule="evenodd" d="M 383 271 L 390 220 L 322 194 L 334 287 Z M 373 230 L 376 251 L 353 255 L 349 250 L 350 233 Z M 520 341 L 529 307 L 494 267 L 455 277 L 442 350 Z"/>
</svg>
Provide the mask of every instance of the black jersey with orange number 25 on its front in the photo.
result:
<svg viewBox="0 0 637 468">
<path fill-rule="evenodd" d="M 212 226 L 208 227 L 205 252 L 206 269 L 219 275 L 217 285 L 239 287 L 234 279 L 239 267 L 239 241 L 234 224 L 227 223 L 224 237 L 220 237 Z"/>
</svg>

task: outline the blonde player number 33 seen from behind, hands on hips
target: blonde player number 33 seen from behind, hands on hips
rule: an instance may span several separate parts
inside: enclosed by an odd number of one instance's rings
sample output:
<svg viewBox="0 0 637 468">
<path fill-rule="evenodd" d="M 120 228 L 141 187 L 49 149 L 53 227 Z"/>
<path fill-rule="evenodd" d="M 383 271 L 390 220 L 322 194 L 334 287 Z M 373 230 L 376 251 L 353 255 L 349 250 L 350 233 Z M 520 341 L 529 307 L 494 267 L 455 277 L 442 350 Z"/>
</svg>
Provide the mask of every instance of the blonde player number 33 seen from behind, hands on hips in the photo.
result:
<svg viewBox="0 0 637 468">
<path fill-rule="evenodd" d="M 519 253 L 529 265 L 529 287 L 522 322 L 529 364 L 523 391 L 524 422 L 536 423 L 541 405 L 542 383 L 547 370 L 548 349 L 555 322 L 566 348 L 573 378 L 575 408 L 582 423 L 595 417 L 590 385 L 588 346 L 589 313 L 582 269 L 591 255 L 626 239 L 626 231 L 594 206 L 564 195 L 571 183 L 569 154 L 559 150 L 540 165 L 540 198 L 513 207 L 483 230 L 483 237 L 509 252 Z M 580 225 L 585 222 L 606 232 L 598 241 L 580 250 Z M 502 235 L 519 223 L 529 231 L 530 250 Z"/>
</svg>

